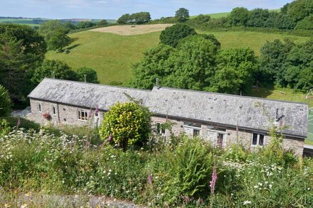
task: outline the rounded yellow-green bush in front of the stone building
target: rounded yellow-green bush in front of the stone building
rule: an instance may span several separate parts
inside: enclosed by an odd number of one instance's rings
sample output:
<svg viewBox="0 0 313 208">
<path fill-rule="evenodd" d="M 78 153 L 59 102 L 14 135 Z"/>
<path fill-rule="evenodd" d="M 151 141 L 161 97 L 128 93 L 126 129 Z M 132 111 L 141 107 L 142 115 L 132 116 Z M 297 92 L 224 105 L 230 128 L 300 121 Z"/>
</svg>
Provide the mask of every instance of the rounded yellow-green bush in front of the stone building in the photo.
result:
<svg viewBox="0 0 313 208">
<path fill-rule="evenodd" d="M 151 132 L 149 110 L 135 102 L 117 103 L 110 107 L 100 127 L 100 138 L 123 149 L 147 141 Z"/>
</svg>

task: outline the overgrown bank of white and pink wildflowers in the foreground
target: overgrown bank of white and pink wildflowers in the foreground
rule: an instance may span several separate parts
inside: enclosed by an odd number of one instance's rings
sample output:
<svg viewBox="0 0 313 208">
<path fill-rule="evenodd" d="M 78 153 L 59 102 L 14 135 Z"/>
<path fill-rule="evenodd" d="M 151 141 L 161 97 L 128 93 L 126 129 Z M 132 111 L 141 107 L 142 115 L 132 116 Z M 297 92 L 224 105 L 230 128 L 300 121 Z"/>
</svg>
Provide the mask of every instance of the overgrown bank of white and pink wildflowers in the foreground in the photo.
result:
<svg viewBox="0 0 313 208">
<path fill-rule="evenodd" d="M 36 207 L 18 204 L 27 193 L 102 195 L 148 207 L 313 207 L 312 158 L 267 157 L 185 136 L 122 150 L 14 129 L 0 138 L 0 207 Z"/>
</svg>

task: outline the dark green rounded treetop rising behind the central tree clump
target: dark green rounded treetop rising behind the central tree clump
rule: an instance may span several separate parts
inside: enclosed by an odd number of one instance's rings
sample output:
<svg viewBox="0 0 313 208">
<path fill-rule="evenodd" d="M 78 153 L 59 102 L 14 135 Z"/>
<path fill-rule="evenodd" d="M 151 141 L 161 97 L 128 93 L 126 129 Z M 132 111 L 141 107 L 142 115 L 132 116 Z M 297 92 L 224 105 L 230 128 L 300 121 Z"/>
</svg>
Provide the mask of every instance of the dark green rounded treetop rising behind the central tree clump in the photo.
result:
<svg viewBox="0 0 313 208">
<path fill-rule="evenodd" d="M 179 40 L 186 38 L 189 35 L 196 35 L 196 31 L 185 24 L 176 24 L 161 32 L 160 42 L 165 45 L 176 47 Z"/>
</svg>

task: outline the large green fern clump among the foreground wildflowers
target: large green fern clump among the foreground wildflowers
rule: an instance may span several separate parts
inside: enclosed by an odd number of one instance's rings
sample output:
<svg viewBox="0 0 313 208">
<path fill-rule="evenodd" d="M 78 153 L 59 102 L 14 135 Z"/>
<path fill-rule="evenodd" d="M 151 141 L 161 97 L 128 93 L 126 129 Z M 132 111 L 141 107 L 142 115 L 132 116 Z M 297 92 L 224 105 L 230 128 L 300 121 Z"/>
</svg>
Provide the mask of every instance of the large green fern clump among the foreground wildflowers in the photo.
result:
<svg viewBox="0 0 313 208">
<path fill-rule="evenodd" d="M 213 169 L 210 148 L 198 138 L 185 137 L 169 158 L 172 179 L 164 187 L 167 202 L 179 204 L 181 196 L 206 197 Z"/>
</svg>

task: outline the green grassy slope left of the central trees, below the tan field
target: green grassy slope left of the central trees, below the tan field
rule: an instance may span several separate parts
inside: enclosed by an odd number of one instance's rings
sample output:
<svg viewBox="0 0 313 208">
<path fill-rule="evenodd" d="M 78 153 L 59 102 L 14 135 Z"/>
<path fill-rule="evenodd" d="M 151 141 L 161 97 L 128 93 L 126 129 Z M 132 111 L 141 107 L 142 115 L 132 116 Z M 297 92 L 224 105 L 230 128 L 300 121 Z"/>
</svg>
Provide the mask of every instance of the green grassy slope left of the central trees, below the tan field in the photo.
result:
<svg viewBox="0 0 313 208">
<path fill-rule="evenodd" d="M 67 62 L 70 67 L 92 67 L 103 84 L 125 82 L 132 77 L 131 65 L 142 58 L 142 52 L 159 43 L 159 32 L 142 35 L 115 35 L 84 31 L 71 34 L 75 42 L 70 54 L 48 52 L 48 59 Z"/>
</svg>

